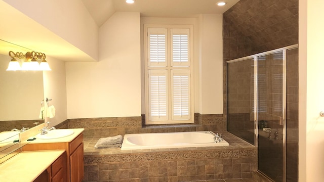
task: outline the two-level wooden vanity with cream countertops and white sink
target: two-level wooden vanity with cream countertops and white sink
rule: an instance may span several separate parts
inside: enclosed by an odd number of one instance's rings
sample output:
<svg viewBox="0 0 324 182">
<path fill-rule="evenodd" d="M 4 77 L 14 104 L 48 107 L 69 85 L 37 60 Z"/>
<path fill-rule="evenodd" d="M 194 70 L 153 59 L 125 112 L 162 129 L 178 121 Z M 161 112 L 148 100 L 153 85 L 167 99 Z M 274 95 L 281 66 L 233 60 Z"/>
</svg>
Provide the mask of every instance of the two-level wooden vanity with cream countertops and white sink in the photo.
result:
<svg viewBox="0 0 324 182">
<path fill-rule="evenodd" d="M 41 126 L 39 126 L 41 127 Z M 39 128 L 37 127 L 37 128 Z M 38 130 L 35 128 L 34 130 Z M 15 156 L 0 164 L 0 179 L 4 181 L 82 181 L 84 177 L 84 128 L 51 130 L 69 132 L 61 137 L 52 133 L 35 135 L 28 141 L 27 132 L 20 133 L 21 147 Z M 19 175 L 17 175 L 19 174 Z M 21 178 L 21 179 L 19 179 Z"/>
</svg>

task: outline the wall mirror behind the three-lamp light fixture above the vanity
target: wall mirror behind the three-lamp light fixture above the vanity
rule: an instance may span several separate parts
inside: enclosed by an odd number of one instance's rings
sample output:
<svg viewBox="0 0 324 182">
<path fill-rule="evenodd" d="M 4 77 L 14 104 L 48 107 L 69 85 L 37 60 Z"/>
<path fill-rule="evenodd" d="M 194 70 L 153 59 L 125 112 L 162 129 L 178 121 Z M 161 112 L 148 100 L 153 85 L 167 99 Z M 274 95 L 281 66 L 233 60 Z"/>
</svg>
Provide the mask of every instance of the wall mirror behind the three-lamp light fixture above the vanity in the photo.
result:
<svg viewBox="0 0 324 182">
<path fill-rule="evenodd" d="M 0 39 L 0 132 L 44 122 L 39 117 L 44 99 L 43 71 L 6 71 L 9 51 L 25 54 L 32 50 Z"/>
</svg>

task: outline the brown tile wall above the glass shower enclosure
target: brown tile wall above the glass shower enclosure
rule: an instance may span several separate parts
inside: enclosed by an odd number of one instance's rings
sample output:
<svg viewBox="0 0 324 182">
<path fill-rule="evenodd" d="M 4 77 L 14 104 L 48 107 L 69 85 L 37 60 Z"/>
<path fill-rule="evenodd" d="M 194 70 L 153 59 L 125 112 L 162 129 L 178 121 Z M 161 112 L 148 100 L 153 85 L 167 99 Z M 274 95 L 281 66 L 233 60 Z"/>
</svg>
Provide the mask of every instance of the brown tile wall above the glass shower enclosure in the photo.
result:
<svg viewBox="0 0 324 182">
<path fill-rule="evenodd" d="M 241 0 L 223 14 L 223 114 L 226 61 L 298 43 L 298 0 Z"/>
</svg>

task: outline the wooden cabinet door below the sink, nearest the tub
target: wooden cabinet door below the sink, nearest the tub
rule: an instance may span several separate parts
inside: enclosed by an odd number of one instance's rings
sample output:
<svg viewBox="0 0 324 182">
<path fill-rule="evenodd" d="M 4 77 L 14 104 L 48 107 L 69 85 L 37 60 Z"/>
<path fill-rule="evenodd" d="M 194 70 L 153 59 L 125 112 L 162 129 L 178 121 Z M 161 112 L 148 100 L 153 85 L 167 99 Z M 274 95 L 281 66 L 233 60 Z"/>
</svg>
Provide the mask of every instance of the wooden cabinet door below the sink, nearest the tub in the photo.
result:
<svg viewBox="0 0 324 182">
<path fill-rule="evenodd" d="M 84 176 L 83 167 L 83 143 L 70 155 L 70 181 L 82 181 Z"/>
</svg>

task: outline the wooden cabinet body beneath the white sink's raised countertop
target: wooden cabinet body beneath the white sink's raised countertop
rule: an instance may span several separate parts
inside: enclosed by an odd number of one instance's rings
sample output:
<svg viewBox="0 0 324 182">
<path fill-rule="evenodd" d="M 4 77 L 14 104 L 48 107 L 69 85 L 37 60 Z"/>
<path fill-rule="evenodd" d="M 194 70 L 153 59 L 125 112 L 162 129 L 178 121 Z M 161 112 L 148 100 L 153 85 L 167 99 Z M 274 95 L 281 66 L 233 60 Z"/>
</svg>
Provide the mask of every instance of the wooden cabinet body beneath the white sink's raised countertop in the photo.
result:
<svg viewBox="0 0 324 182">
<path fill-rule="evenodd" d="M 29 143 L 29 144 L 25 145 L 22 148 L 22 150 L 23 151 L 36 151 L 36 150 L 64 149 L 66 151 L 66 169 L 67 170 L 63 171 L 63 173 L 67 173 L 66 176 L 67 176 L 68 182 L 80 182 L 80 181 L 82 181 L 82 179 L 84 177 L 84 152 L 83 152 L 84 149 L 83 149 L 83 146 L 84 146 L 83 145 L 83 133 L 80 133 L 78 136 L 76 136 L 76 138 L 72 142 Z M 60 181 L 60 180 L 57 180 L 57 181 Z"/>
</svg>

